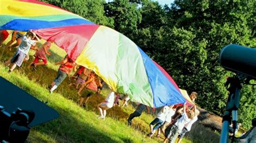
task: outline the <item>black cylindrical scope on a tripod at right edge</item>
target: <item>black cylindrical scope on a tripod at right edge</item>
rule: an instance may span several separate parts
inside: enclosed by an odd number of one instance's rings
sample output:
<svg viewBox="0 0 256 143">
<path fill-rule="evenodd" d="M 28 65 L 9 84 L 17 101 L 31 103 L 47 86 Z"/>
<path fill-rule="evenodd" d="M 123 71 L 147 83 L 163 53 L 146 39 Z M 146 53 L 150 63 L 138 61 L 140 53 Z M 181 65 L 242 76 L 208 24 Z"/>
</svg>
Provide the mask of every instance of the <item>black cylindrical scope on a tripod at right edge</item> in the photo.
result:
<svg viewBox="0 0 256 143">
<path fill-rule="evenodd" d="M 221 143 L 228 142 L 228 129 L 232 121 L 233 142 L 234 140 L 241 140 L 241 138 L 234 137 L 235 129 L 237 129 L 238 109 L 240 106 L 240 90 L 242 83 L 250 84 L 250 80 L 256 79 L 256 49 L 231 44 L 221 49 L 219 61 L 221 66 L 236 74 L 233 77 L 227 78 L 227 82 L 225 83 L 229 94 L 220 135 Z M 251 130 L 253 130 L 254 127 L 255 126 L 253 126 Z M 248 134 L 250 133 L 248 132 Z M 243 138 L 246 138 L 248 134 Z"/>
</svg>

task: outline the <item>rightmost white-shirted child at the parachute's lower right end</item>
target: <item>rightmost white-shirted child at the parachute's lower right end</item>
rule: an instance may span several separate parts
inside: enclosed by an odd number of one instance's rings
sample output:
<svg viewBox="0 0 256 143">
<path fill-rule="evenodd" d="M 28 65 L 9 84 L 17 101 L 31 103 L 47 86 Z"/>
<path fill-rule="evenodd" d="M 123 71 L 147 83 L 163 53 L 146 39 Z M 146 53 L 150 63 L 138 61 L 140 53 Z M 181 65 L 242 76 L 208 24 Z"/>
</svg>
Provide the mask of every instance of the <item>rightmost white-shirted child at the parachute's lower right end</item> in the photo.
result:
<svg viewBox="0 0 256 143">
<path fill-rule="evenodd" d="M 183 130 L 181 131 L 181 133 L 178 135 L 178 143 L 181 142 L 182 138 L 184 137 L 184 135 L 189 132 L 191 130 L 192 125 L 198 120 L 198 115 L 199 115 L 199 110 L 196 109 L 196 106 L 194 106 L 193 109 L 191 109 L 193 111 L 195 111 L 195 115 L 193 119 L 191 119 L 190 122 L 188 122 L 187 124 L 185 124 Z"/>
</svg>

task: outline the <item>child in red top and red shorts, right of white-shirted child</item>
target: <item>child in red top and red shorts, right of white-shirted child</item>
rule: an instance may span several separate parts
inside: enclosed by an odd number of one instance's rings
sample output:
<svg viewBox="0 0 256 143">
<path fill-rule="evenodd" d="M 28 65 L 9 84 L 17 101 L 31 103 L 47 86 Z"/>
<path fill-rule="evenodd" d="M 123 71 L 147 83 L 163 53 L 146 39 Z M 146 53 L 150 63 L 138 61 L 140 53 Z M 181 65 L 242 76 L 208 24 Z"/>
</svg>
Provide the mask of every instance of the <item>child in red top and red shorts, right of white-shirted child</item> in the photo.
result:
<svg viewBox="0 0 256 143">
<path fill-rule="evenodd" d="M 51 41 L 52 42 L 52 41 Z M 42 47 L 36 52 L 35 56 L 35 60 L 33 62 L 30 63 L 30 65 L 28 66 L 28 68 L 31 68 L 31 66 L 33 67 L 33 69 L 36 70 L 36 66 L 39 65 L 46 65 L 47 64 L 47 58 L 46 55 L 51 55 L 51 52 L 49 52 L 49 48 L 51 47 L 51 42 L 50 41 L 46 41 Z M 41 62 L 39 62 L 39 60 L 42 60 Z"/>
</svg>

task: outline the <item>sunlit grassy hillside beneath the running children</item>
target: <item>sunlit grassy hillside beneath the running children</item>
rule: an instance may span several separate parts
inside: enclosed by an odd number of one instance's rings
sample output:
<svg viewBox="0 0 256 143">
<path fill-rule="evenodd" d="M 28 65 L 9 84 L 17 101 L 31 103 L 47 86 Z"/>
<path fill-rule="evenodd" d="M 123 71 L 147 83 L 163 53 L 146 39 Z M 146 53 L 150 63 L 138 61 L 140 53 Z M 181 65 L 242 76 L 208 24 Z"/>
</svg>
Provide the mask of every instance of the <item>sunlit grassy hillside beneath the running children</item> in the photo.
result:
<svg viewBox="0 0 256 143">
<path fill-rule="evenodd" d="M 53 63 L 62 60 L 65 56 L 65 52 L 60 48 L 52 46 L 48 65 L 37 67 L 36 71 L 26 68 L 34 59 L 32 55 L 35 51 L 31 50 L 30 60 L 11 74 L 7 73 L 8 69 L 4 67 L 3 62 L 11 57 L 16 49 L 11 52 L 7 49 L 4 52 L 3 50 L 0 49 L 3 55 L 0 57 L 0 76 L 39 100 L 49 101 L 48 105 L 60 114 L 58 119 L 33 127 L 28 142 L 160 142 L 163 140 L 163 135 L 161 138 L 153 139 L 145 137 L 150 131 L 149 124 L 154 119 L 152 115 L 143 113 L 141 117 L 133 119 L 132 127 L 126 125 L 126 119 L 134 111 L 132 105 L 122 109 L 115 106 L 107 110 L 106 120 L 97 119 L 99 113 L 96 106 L 104 101 L 108 89 L 104 89 L 102 95 L 93 95 L 87 109 L 78 106 L 77 91 L 67 87 L 70 83 L 68 78 L 53 94 L 50 94 L 46 87 L 55 78 L 59 67 L 54 66 Z M 204 127 L 200 128 L 200 132 L 197 129 L 193 130 L 195 131 L 191 131 L 183 142 L 218 142 L 218 135 Z"/>
</svg>

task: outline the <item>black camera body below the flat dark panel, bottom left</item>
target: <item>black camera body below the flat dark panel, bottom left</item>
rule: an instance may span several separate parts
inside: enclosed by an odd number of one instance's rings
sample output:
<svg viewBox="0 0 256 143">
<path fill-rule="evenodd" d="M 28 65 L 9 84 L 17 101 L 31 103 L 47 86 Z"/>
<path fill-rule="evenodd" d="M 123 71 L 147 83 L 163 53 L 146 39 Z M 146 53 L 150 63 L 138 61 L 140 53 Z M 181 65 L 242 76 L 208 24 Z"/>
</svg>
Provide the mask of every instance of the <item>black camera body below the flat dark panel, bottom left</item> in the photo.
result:
<svg viewBox="0 0 256 143">
<path fill-rule="evenodd" d="M 0 142 L 25 142 L 30 131 L 29 124 L 34 118 L 33 111 L 18 108 L 10 114 L 0 105 Z"/>
</svg>

